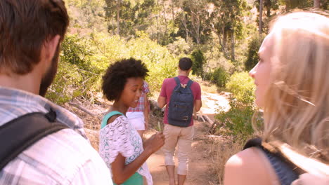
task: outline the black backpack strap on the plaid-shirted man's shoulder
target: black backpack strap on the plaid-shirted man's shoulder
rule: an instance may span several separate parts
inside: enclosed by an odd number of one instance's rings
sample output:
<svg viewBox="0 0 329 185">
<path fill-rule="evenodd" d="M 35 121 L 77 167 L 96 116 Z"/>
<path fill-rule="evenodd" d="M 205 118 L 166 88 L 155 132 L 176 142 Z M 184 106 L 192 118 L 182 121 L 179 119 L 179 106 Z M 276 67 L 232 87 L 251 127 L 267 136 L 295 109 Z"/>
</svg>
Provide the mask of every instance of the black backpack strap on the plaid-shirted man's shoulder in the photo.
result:
<svg viewBox="0 0 329 185">
<path fill-rule="evenodd" d="M 67 125 L 56 121 L 56 112 L 25 114 L 0 127 L 0 171 L 22 151 L 39 139 Z"/>
</svg>

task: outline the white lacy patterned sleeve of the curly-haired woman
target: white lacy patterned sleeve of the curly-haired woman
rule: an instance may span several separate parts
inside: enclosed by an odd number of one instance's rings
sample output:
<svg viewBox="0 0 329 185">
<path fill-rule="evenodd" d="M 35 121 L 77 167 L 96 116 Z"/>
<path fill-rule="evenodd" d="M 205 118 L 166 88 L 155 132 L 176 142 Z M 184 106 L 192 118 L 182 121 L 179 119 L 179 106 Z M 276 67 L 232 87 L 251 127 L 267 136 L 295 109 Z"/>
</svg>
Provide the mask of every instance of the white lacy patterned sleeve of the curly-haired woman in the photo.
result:
<svg viewBox="0 0 329 185">
<path fill-rule="evenodd" d="M 116 118 L 115 121 L 101 129 L 99 153 L 109 168 L 119 153 L 125 158 L 134 155 L 129 130 L 129 123 L 124 116 Z"/>
</svg>

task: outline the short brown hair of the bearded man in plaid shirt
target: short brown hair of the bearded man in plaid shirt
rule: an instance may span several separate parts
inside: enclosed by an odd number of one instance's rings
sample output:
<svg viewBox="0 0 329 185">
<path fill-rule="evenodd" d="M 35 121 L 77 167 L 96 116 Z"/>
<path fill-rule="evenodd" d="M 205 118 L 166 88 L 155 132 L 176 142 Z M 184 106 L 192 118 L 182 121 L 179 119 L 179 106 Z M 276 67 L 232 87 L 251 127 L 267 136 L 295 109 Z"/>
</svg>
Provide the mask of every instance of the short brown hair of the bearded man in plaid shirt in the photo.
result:
<svg viewBox="0 0 329 185">
<path fill-rule="evenodd" d="M 44 42 L 57 34 L 63 41 L 68 24 L 62 0 L 1 0 L 0 72 L 32 71 Z"/>
</svg>

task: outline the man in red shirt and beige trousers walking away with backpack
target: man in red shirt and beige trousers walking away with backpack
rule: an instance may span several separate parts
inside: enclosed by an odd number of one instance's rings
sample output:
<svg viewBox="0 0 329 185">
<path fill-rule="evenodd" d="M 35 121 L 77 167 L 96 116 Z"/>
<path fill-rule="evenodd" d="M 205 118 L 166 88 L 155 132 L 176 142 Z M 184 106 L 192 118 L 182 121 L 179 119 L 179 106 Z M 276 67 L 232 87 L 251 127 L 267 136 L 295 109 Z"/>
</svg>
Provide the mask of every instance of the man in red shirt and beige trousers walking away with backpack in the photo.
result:
<svg viewBox="0 0 329 185">
<path fill-rule="evenodd" d="M 174 177 L 174 152 L 177 146 L 178 184 L 184 184 L 188 172 L 188 156 L 193 141 L 193 107 L 199 111 L 201 102 L 200 85 L 188 78 L 192 60 L 183 57 L 179 60 L 179 76 L 166 78 L 162 83 L 157 99 L 160 108 L 167 104 L 164 111 L 164 163 L 169 176 L 169 184 L 176 184 Z"/>
</svg>

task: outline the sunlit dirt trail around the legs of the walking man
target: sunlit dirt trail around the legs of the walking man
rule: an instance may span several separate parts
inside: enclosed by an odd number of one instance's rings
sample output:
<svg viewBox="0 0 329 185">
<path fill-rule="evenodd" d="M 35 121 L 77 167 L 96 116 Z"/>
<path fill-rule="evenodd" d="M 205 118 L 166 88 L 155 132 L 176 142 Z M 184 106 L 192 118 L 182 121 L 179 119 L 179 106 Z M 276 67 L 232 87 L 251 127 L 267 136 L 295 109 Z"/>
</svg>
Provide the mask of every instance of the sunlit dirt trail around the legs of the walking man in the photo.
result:
<svg viewBox="0 0 329 185">
<path fill-rule="evenodd" d="M 213 119 L 218 105 L 229 109 L 228 100 L 225 95 L 218 95 L 213 93 L 202 93 L 202 109 L 200 114 L 207 114 L 209 118 Z M 216 174 L 211 169 L 210 164 L 213 163 L 207 132 L 209 130 L 209 123 L 195 121 L 195 139 L 192 143 L 192 152 L 189 162 L 189 171 L 186 179 L 186 185 L 199 185 L 199 184 L 218 184 Z M 146 137 L 153 135 L 155 131 L 146 132 Z M 176 160 L 176 158 L 175 158 Z M 167 176 L 166 168 L 164 166 L 164 152 L 162 149 L 157 151 L 147 160 L 148 167 L 153 177 L 155 185 L 167 185 L 169 179 Z M 177 160 L 176 160 L 177 164 Z"/>
</svg>

